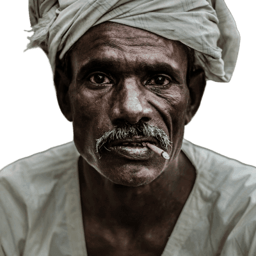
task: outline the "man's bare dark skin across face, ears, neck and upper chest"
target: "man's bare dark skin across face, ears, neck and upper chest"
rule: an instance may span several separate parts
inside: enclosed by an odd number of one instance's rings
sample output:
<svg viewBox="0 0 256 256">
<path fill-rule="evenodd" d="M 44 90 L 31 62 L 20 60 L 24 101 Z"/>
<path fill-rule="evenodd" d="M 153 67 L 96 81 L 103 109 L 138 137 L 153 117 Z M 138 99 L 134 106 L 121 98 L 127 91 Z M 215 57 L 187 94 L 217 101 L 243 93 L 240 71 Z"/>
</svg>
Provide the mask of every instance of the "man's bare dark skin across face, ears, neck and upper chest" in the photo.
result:
<svg viewBox="0 0 256 256">
<path fill-rule="evenodd" d="M 88 255 L 161 255 L 195 183 L 195 168 L 180 148 L 204 94 L 204 72 L 196 70 L 187 84 L 184 45 L 112 22 L 87 31 L 70 60 L 71 81 L 56 68 L 55 84 L 81 154 Z M 108 150 L 97 157 L 96 139 L 104 132 L 140 120 L 170 137 L 169 160 Z"/>
</svg>

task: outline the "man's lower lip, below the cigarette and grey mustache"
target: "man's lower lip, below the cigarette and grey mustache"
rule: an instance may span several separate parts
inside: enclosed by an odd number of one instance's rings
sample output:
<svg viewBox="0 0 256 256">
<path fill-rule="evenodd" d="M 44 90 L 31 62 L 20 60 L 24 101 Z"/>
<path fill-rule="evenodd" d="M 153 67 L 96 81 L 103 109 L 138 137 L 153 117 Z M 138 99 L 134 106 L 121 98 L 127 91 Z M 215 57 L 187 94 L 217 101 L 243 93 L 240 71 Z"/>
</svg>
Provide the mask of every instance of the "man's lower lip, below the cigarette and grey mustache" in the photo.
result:
<svg viewBox="0 0 256 256">
<path fill-rule="evenodd" d="M 146 160 L 154 154 L 148 147 L 115 146 L 109 147 L 109 150 L 115 152 L 119 156 L 127 157 L 132 160 Z"/>
</svg>

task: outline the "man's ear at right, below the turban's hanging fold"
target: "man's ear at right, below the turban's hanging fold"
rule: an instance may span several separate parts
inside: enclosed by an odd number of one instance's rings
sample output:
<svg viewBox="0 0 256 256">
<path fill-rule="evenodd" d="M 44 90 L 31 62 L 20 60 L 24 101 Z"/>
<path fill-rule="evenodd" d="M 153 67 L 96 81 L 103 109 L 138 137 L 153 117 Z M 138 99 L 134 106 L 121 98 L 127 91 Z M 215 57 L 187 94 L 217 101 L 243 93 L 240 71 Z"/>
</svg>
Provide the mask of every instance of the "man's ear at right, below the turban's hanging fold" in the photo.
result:
<svg viewBox="0 0 256 256">
<path fill-rule="evenodd" d="M 186 125 L 191 122 L 193 117 L 196 115 L 196 112 L 200 108 L 206 84 L 207 82 L 205 80 L 204 70 L 197 69 L 193 71 L 193 74 L 191 74 L 188 84 L 190 97 L 187 108 Z"/>
</svg>

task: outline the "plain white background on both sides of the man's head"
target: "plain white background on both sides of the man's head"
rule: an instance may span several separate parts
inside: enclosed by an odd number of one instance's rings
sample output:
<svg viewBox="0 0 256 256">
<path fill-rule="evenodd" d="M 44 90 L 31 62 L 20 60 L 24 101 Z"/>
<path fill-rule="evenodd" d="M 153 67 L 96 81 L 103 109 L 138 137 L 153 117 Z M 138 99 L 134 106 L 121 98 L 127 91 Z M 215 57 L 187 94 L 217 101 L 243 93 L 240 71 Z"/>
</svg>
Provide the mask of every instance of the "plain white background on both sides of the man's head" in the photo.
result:
<svg viewBox="0 0 256 256">
<path fill-rule="evenodd" d="M 226 3 L 241 34 L 237 67 L 229 84 L 207 84 L 185 138 L 256 166 L 256 4 Z M 22 52 L 29 35 L 23 31 L 29 29 L 27 1 L 4 1 L 1 7 L 0 168 L 72 140 L 72 126 L 56 102 L 47 58 L 39 49 Z"/>
</svg>

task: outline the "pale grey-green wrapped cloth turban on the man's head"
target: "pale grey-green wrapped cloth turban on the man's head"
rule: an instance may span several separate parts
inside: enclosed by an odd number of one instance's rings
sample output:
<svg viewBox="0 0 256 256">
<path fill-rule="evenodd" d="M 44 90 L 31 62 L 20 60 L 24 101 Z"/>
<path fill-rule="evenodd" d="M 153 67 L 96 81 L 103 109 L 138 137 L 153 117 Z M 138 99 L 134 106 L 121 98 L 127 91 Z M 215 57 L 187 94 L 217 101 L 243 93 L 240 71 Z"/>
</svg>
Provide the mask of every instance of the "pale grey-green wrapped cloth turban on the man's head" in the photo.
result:
<svg viewBox="0 0 256 256">
<path fill-rule="evenodd" d="M 60 60 L 92 26 L 110 21 L 145 29 L 195 49 L 207 80 L 228 83 L 240 36 L 224 0 L 29 0 L 33 35 L 26 49 L 43 49 L 54 73 Z"/>
</svg>

